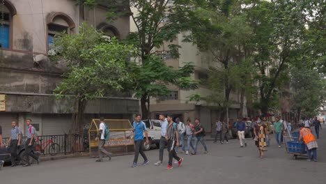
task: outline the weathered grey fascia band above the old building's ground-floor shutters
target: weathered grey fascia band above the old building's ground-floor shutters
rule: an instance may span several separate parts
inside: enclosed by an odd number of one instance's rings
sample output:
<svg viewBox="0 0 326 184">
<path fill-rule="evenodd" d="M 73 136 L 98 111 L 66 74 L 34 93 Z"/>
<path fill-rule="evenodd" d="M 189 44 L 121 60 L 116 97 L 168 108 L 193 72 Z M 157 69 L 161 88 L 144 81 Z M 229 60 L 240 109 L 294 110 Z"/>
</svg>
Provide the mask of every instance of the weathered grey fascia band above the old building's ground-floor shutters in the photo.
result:
<svg viewBox="0 0 326 184">
<path fill-rule="evenodd" d="M 74 100 L 56 100 L 53 95 L 6 95 L 6 112 L 33 114 L 71 114 Z M 137 114 L 138 100 L 131 98 L 101 98 L 91 100 L 85 114 Z"/>
</svg>

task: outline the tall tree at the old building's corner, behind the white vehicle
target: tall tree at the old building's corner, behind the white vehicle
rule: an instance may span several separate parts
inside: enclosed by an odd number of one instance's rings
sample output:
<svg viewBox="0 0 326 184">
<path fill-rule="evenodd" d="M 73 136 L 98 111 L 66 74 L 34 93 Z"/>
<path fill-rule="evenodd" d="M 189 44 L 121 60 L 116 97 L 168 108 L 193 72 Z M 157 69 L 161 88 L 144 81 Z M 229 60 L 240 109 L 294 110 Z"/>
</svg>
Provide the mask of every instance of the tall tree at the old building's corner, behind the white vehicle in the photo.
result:
<svg viewBox="0 0 326 184">
<path fill-rule="evenodd" d="M 137 31 L 130 33 L 125 39 L 128 44 L 134 45 L 138 50 L 138 63 L 130 63 L 128 66 L 133 83 L 127 83 L 126 88 L 132 90 L 141 100 L 141 112 L 144 118 L 150 116 L 150 97 L 168 95 L 171 91 L 167 86 L 176 85 L 180 89 L 196 89 L 196 81 L 190 77 L 194 72 L 191 63 L 185 63 L 181 68 L 166 66 L 162 59 L 155 55 L 155 48 L 160 48 L 164 43 L 169 44 L 169 52 L 177 58 L 179 45 L 173 44 L 179 33 L 189 30 L 189 6 L 192 1 L 143 1 L 128 0 L 128 3 L 116 3 L 116 1 L 84 0 L 79 1 L 86 5 L 94 6 L 98 3 L 105 4 L 109 8 L 107 19 L 114 20 L 123 15 L 119 10 L 121 4 L 130 3 L 137 12 L 131 15 Z M 130 10 L 131 11 L 131 10 Z M 173 78 L 171 78 L 173 77 Z"/>
</svg>

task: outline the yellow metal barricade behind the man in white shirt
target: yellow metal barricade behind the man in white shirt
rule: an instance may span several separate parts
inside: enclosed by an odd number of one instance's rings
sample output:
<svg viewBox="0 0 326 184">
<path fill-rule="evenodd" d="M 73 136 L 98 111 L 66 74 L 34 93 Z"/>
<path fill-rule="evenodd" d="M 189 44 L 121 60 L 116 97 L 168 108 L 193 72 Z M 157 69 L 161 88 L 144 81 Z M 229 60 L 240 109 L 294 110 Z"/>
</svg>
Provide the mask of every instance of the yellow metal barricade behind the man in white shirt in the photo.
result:
<svg viewBox="0 0 326 184">
<path fill-rule="evenodd" d="M 109 141 L 105 141 L 104 148 L 114 155 L 133 153 L 134 139 L 132 124 L 127 119 L 105 119 L 104 123 L 109 128 Z M 98 156 L 98 141 L 95 137 L 100 128 L 100 119 L 93 119 L 88 130 L 89 153 L 91 157 Z"/>
</svg>

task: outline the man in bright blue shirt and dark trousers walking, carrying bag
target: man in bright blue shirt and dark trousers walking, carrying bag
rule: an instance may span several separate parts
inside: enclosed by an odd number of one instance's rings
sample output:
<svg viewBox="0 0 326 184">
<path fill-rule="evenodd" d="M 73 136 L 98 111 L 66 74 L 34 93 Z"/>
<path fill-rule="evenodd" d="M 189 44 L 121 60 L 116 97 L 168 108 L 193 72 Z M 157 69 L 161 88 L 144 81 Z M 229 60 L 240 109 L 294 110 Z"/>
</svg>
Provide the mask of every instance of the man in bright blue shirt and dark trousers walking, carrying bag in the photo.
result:
<svg viewBox="0 0 326 184">
<path fill-rule="evenodd" d="M 143 157 L 143 165 L 149 163 L 145 153 L 143 153 L 143 134 L 146 136 L 146 144 L 149 144 L 148 132 L 146 130 L 146 124 L 141 121 L 141 115 L 136 114 L 135 121 L 132 123 L 132 132 L 134 132 L 134 162 L 132 167 L 137 167 L 138 155 L 139 153 Z"/>
</svg>

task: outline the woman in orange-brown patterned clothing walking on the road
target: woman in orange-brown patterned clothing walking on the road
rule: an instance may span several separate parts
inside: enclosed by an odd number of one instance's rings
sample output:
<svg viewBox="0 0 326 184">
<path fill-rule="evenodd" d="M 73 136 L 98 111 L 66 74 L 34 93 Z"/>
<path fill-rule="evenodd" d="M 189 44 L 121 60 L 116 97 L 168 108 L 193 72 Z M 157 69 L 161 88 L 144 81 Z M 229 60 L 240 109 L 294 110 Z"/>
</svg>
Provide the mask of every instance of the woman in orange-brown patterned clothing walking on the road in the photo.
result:
<svg viewBox="0 0 326 184">
<path fill-rule="evenodd" d="M 267 151 L 267 144 L 266 144 L 267 127 L 266 125 L 263 125 L 260 120 L 258 120 L 257 124 L 254 126 L 254 134 L 255 134 L 255 143 L 259 150 L 259 156 L 263 158 L 264 151 Z"/>
</svg>

